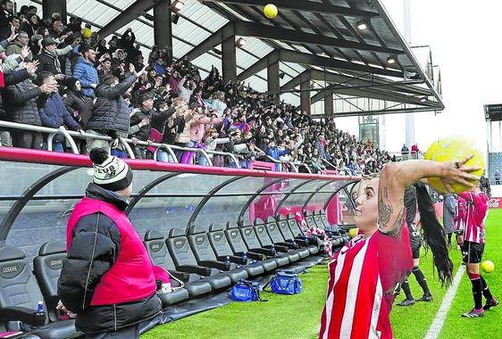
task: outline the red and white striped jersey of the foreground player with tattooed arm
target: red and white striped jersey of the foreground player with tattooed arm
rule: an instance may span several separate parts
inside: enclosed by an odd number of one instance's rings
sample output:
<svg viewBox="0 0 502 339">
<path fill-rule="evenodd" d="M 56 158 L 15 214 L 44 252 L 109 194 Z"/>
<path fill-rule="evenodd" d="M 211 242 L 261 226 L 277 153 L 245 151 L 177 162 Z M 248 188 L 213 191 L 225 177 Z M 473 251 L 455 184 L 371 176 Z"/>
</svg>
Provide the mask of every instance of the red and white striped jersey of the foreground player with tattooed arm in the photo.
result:
<svg viewBox="0 0 502 339">
<path fill-rule="evenodd" d="M 397 284 L 413 268 L 407 227 L 400 236 L 356 236 L 330 261 L 319 338 L 392 338 Z"/>
</svg>

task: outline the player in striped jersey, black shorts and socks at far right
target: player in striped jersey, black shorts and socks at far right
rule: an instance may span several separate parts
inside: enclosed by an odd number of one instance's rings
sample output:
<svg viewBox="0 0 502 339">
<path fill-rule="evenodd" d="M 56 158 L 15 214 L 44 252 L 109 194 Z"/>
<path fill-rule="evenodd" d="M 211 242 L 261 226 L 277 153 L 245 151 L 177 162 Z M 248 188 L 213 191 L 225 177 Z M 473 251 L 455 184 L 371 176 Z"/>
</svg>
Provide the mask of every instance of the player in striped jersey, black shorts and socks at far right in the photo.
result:
<svg viewBox="0 0 502 339">
<path fill-rule="evenodd" d="M 489 292 L 488 285 L 480 275 L 480 262 L 484 251 L 485 230 L 484 221 L 488 216 L 487 194 L 481 192 L 480 185 L 476 185 L 472 191 L 461 193 L 460 196 L 467 202 L 467 212 L 462 236 L 458 236 L 462 247 L 462 254 L 467 276 L 473 285 L 474 308 L 465 312 L 462 317 L 477 318 L 484 316 L 484 311 L 498 306 L 498 301 Z M 486 303 L 482 306 L 482 296 Z M 482 306 L 482 307 L 481 307 Z"/>
</svg>

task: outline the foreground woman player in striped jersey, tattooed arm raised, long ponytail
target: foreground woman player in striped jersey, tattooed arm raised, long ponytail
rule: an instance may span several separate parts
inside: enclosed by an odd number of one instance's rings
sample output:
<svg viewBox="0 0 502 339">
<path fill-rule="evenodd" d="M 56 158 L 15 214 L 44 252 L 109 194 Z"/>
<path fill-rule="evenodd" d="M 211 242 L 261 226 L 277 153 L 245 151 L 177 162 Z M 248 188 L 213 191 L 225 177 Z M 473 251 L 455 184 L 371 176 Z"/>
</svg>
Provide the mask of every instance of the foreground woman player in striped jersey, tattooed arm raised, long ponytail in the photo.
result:
<svg viewBox="0 0 502 339">
<path fill-rule="evenodd" d="M 477 168 L 464 161 L 402 161 L 387 164 L 380 178 L 363 180 L 356 199 L 356 225 L 364 235 L 356 236 L 330 261 L 327 300 L 322 311 L 320 338 L 392 338 L 389 312 L 393 294 L 413 268 L 403 197 L 405 189 L 422 178 L 441 178 L 451 185 L 473 187 L 468 180 Z M 420 203 L 422 219 L 434 213 Z M 427 196 L 429 196 L 427 194 Z M 423 237 L 429 244 L 443 284 L 451 282 L 453 263 L 448 257 L 445 232 L 439 224 L 423 223 Z"/>
</svg>

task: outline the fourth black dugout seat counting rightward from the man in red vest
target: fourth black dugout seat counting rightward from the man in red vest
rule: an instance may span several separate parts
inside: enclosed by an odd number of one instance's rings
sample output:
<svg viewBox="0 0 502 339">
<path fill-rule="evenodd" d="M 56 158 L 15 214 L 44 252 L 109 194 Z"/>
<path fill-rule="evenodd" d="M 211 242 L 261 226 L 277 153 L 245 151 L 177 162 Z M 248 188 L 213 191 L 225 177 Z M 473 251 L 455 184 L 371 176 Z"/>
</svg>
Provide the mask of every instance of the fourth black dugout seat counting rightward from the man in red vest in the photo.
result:
<svg viewBox="0 0 502 339">
<path fill-rule="evenodd" d="M 244 265 L 243 269 L 246 269 L 248 277 L 259 276 L 264 273 L 264 267 L 261 265 L 248 265 L 248 262 L 244 262 L 241 256 L 237 256 L 232 252 L 229 241 L 224 233 L 225 227 L 222 225 L 212 224 L 209 227 L 209 233 L 207 237 L 209 239 L 209 244 L 213 247 L 214 254 L 219 261 L 226 261 L 227 258 L 230 262 L 236 263 L 238 265 Z"/>
</svg>

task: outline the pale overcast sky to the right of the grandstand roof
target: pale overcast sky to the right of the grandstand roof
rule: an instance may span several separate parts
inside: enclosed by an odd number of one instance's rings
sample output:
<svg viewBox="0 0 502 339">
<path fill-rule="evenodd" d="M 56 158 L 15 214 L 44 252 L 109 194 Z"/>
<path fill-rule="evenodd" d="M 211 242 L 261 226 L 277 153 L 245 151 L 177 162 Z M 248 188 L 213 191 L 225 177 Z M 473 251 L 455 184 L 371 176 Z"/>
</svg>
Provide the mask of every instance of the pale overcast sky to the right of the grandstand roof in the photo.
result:
<svg viewBox="0 0 502 339">
<path fill-rule="evenodd" d="M 403 0 L 383 0 L 391 19 L 403 32 Z M 412 45 L 431 45 L 432 59 L 441 69 L 444 112 L 415 114 L 415 141 L 426 149 L 440 136 L 473 137 L 486 151 L 483 104 L 502 103 L 502 1 L 411 0 Z M 387 145 L 397 152 L 405 141 L 404 117 L 387 116 Z M 355 120 L 340 128 L 358 134 Z M 500 143 L 500 136 L 497 137 Z"/>
</svg>

